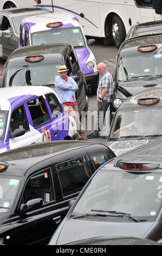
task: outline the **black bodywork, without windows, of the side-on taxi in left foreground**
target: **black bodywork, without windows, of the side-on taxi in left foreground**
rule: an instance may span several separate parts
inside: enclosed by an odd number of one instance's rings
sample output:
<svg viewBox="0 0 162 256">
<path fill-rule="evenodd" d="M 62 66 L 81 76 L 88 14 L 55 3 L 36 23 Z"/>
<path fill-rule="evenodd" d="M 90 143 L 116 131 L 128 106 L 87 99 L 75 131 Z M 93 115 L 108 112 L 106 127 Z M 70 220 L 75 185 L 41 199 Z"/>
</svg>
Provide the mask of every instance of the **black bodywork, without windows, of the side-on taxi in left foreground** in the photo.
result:
<svg viewBox="0 0 162 256">
<path fill-rule="evenodd" d="M 47 244 L 67 214 L 69 200 L 75 199 L 79 194 L 76 192 L 66 197 L 60 196 L 35 210 L 22 212 L 22 194 L 31 175 L 47 168 L 51 169 L 51 175 L 56 170 L 55 164 L 81 156 L 86 157 L 92 175 L 96 167 L 90 160 L 90 154 L 102 152 L 107 152 L 110 158 L 115 156 L 106 145 L 74 141 L 40 143 L 2 153 L 0 162 L 9 163 L 8 169 L 2 175 L 19 176 L 22 179 L 12 208 L 6 214 L 0 215 L 0 239 L 4 245 Z M 53 181 L 53 194 L 56 193 L 56 186 L 61 189 L 59 179 Z"/>
</svg>

